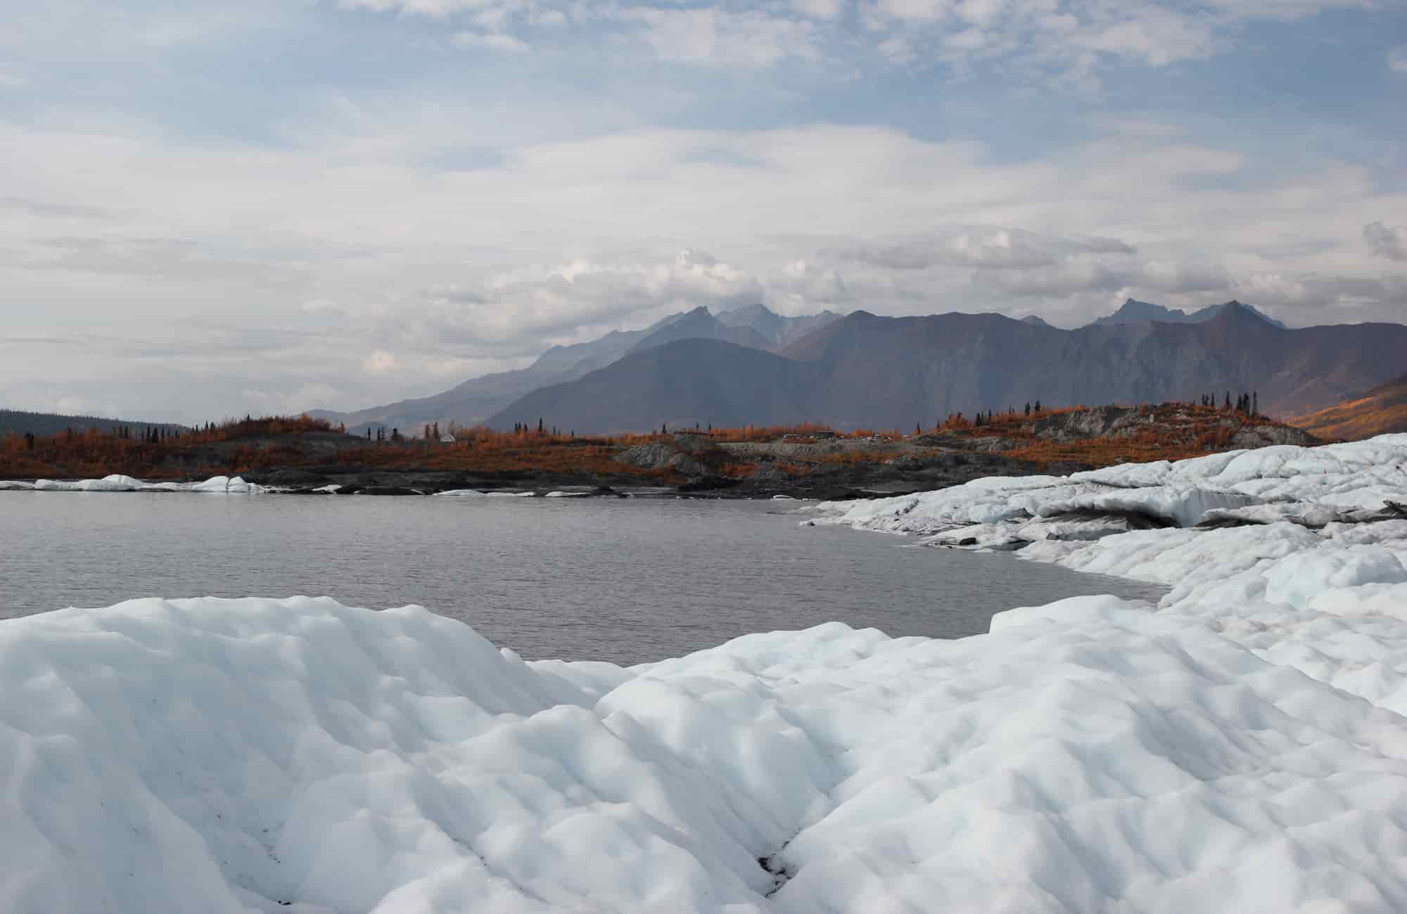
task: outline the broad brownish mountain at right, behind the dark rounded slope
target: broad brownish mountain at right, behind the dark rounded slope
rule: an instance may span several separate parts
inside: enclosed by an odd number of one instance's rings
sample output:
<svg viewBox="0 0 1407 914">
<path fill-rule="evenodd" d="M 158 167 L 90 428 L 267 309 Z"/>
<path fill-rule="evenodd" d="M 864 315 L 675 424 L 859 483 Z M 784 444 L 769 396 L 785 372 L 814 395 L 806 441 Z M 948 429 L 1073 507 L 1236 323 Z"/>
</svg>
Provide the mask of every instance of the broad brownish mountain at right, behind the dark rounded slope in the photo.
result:
<svg viewBox="0 0 1407 914">
<path fill-rule="evenodd" d="M 1407 326 L 1279 329 L 1248 308 L 1203 323 L 1061 330 L 1000 315 L 855 314 L 785 349 L 826 366 L 836 422 L 899 427 L 948 412 L 1196 399 L 1258 391 L 1261 409 L 1327 406 L 1407 368 Z M 912 418 L 905 418 L 908 412 Z"/>
</svg>

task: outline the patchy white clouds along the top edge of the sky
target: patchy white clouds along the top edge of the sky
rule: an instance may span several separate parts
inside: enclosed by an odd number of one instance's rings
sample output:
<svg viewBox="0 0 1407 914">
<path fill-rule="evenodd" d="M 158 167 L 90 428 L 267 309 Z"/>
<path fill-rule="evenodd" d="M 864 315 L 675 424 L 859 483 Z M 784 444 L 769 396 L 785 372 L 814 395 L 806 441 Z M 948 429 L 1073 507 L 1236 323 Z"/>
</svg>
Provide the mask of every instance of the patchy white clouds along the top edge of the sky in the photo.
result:
<svg viewBox="0 0 1407 914">
<path fill-rule="evenodd" d="M 787 59 L 820 60 L 827 55 L 847 69 L 844 53 L 855 35 L 843 27 L 844 0 L 787 0 L 739 8 L 723 3 L 680 6 L 670 0 L 623 4 L 620 0 L 573 0 L 546 8 L 529 0 L 342 0 L 350 8 L 478 21 L 473 32 L 456 30 L 460 44 L 523 51 L 521 34 L 509 37 L 508 20 L 537 27 L 598 28 L 613 22 L 639 37 L 661 60 L 682 65 L 763 69 Z M 896 65 L 920 59 L 943 62 L 968 76 L 974 63 L 1005 60 L 1010 76 L 1024 72 L 1047 82 L 1097 86 L 1110 62 L 1162 67 L 1200 60 L 1235 46 L 1241 27 L 1285 21 L 1342 7 L 1370 8 L 1372 0 L 858 0 L 867 53 Z M 789 10 L 796 18 L 781 14 Z M 570 13 L 570 15 L 568 15 Z M 598 35 L 599 38 L 599 35 Z M 536 39 L 535 39 L 536 41 Z M 1390 55 L 1399 67 L 1401 55 Z"/>
</svg>

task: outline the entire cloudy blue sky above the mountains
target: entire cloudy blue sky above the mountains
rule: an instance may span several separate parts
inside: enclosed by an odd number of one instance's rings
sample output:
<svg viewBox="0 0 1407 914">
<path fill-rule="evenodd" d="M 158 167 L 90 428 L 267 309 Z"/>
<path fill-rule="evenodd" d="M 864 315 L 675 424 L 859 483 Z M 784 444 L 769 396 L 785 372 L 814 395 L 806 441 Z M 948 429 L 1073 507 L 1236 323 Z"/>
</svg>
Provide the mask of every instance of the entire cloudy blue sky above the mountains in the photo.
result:
<svg viewBox="0 0 1407 914">
<path fill-rule="evenodd" d="M 681 309 L 1407 322 L 1404 0 L 0 0 L 0 406 L 353 409 Z"/>
</svg>

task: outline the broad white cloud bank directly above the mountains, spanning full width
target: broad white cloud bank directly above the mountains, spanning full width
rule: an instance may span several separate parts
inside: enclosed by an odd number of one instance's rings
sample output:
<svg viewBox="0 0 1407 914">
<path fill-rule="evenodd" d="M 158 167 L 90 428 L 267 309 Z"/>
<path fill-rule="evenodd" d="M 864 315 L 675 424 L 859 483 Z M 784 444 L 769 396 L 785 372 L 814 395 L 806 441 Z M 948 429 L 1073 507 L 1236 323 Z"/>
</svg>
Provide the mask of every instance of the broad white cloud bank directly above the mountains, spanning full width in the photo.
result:
<svg viewBox="0 0 1407 914">
<path fill-rule="evenodd" d="M 0 125 L 0 204 L 24 212 L 0 219 L 0 283 L 32 302 L 0 339 L 0 388 L 20 405 L 52 402 L 34 378 L 56 371 L 63 395 L 158 418 L 242 415 L 260 406 L 241 390 L 308 384 L 339 401 L 300 408 L 388 402 L 753 301 L 1072 325 L 1121 295 L 1238 297 L 1286 319 L 1401 319 L 1407 277 L 1359 240 L 1407 197 L 1361 169 L 1316 162 L 1241 187 L 1254 160 L 1158 129 L 1036 162 L 881 127 L 639 129 L 474 169 L 425 163 L 481 124 L 421 112 L 377 122 L 384 145 L 104 129 Z"/>
</svg>

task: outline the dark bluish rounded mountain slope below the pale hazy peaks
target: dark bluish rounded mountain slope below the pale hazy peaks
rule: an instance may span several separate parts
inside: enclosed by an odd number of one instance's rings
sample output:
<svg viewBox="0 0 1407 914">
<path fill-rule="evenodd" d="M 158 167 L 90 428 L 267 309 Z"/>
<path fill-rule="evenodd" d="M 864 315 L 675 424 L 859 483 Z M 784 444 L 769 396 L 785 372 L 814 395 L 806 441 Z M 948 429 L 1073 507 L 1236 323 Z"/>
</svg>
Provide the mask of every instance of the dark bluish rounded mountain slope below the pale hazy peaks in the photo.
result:
<svg viewBox="0 0 1407 914">
<path fill-rule="evenodd" d="M 542 419 L 575 432 L 771 425 L 806 416 L 819 381 L 816 367 L 760 349 L 684 339 L 533 391 L 487 425 L 501 429 Z"/>
</svg>

